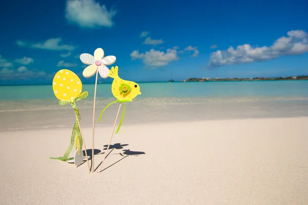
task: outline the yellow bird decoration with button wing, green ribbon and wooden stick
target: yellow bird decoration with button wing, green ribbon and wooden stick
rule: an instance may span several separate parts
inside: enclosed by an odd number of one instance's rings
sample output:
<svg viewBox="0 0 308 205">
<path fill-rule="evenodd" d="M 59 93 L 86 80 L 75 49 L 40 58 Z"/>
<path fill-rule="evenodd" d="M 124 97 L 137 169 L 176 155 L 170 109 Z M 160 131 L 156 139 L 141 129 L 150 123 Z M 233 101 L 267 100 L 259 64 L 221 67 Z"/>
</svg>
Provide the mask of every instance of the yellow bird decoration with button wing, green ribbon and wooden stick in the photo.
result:
<svg viewBox="0 0 308 205">
<path fill-rule="evenodd" d="M 106 159 L 106 155 L 107 155 L 109 147 L 110 147 L 110 143 L 111 143 L 111 140 L 112 140 L 113 132 L 114 132 L 114 129 L 115 129 L 115 124 L 117 124 L 118 116 L 119 116 L 119 113 L 120 113 L 121 105 L 123 104 L 123 113 L 122 113 L 122 117 L 121 117 L 121 120 L 120 120 L 120 124 L 119 124 L 118 130 L 115 133 L 119 132 L 120 127 L 121 127 L 122 122 L 123 122 L 124 113 L 125 113 L 125 104 L 124 103 L 132 101 L 132 99 L 135 98 L 137 95 L 141 95 L 140 87 L 139 87 L 139 85 L 137 83 L 134 83 L 133 81 L 123 80 L 123 79 L 121 79 L 119 77 L 118 66 L 115 66 L 115 68 L 111 67 L 111 70 L 109 71 L 108 76 L 113 78 L 112 85 L 111 85 L 111 91 L 112 91 L 113 96 L 115 98 L 117 98 L 117 100 L 113 101 L 112 103 L 110 103 L 109 105 L 107 105 L 103 109 L 103 111 L 102 111 L 102 113 L 100 115 L 99 121 L 101 121 L 103 112 L 110 105 L 119 102 L 120 106 L 119 106 L 119 110 L 118 110 L 117 116 L 115 117 L 112 134 L 111 134 L 111 137 L 110 137 L 110 140 L 109 140 L 109 144 L 108 144 L 107 150 L 105 152 L 105 157 L 103 159 L 103 162 L 102 162 L 102 165 L 101 165 L 99 173 L 102 170 L 104 161 Z"/>
</svg>

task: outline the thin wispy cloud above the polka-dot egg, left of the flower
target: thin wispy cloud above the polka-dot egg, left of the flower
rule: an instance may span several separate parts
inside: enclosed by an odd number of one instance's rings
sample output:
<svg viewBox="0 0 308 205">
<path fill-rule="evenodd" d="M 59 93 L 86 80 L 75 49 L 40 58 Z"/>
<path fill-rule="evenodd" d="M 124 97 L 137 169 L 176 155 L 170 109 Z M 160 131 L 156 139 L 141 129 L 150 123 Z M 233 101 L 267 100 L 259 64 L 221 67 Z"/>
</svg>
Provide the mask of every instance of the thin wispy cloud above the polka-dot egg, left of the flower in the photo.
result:
<svg viewBox="0 0 308 205">
<path fill-rule="evenodd" d="M 45 42 L 41 43 L 31 43 L 31 42 L 26 42 L 24 40 L 17 40 L 16 44 L 22 47 L 38 48 L 46 50 L 59 50 L 59 51 L 60 50 L 72 51 L 76 48 L 75 46 L 67 44 L 60 45 L 61 42 L 62 42 L 61 38 L 49 38 Z"/>
</svg>

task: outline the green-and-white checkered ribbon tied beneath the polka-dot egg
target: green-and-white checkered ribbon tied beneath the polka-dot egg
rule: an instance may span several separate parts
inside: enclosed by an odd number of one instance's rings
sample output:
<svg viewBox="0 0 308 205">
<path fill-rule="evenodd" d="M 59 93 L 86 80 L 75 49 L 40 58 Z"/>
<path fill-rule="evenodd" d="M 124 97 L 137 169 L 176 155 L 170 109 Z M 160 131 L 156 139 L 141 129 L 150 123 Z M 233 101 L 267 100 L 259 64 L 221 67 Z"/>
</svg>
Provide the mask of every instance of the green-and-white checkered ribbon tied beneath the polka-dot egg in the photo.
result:
<svg viewBox="0 0 308 205">
<path fill-rule="evenodd" d="M 78 111 L 78 108 L 77 108 L 77 105 L 76 105 L 75 101 L 85 99 L 86 97 L 88 97 L 88 95 L 89 95 L 89 93 L 87 91 L 85 91 L 85 92 L 79 94 L 73 100 L 62 100 L 62 101 L 59 101 L 59 105 L 63 106 L 63 105 L 71 104 L 71 106 L 74 108 L 74 111 L 75 111 L 76 115 L 78 116 L 78 121 L 80 121 L 81 117 L 80 117 L 80 114 L 79 114 L 79 111 Z M 80 148 L 80 150 L 82 149 L 83 142 L 82 142 L 82 137 L 81 137 L 81 131 L 80 131 L 79 126 L 78 126 L 78 121 L 76 119 L 74 127 L 73 127 L 73 130 L 72 130 L 71 142 L 70 142 L 70 145 L 69 145 L 67 151 L 65 152 L 64 156 L 63 157 L 50 157 L 50 159 L 59 159 L 61 161 L 66 161 L 66 160 L 73 159 L 73 157 L 71 157 L 71 158 L 67 158 L 67 157 L 68 157 L 69 153 L 72 151 L 72 148 L 74 146 L 74 141 L 75 141 L 75 137 L 76 136 L 78 137 L 79 148 Z"/>
</svg>

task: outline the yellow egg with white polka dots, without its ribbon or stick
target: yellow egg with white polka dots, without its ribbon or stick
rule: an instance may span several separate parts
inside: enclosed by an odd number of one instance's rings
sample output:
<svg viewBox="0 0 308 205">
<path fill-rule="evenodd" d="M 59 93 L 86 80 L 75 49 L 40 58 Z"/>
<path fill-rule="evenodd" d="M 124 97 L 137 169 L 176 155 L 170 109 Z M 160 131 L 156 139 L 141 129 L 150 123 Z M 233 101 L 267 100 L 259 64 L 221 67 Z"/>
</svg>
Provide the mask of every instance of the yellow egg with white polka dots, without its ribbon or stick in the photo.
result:
<svg viewBox="0 0 308 205">
<path fill-rule="evenodd" d="M 81 93 L 82 83 L 74 72 L 62 69 L 54 75 L 52 89 L 59 100 L 73 100 Z"/>
</svg>

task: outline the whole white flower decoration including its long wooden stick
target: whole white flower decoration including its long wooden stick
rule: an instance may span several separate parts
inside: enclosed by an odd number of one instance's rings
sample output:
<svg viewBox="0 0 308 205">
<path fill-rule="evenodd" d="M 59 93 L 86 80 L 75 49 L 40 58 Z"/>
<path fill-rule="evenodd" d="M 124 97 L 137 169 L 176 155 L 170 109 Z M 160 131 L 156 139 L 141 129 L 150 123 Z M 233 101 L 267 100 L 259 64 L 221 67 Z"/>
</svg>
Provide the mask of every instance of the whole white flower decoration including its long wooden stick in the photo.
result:
<svg viewBox="0 0 308 205">
<path fill-rule="evenodd" d="M 92 77 L 96 73 L 95 87 L 94 87 L 94 103 L 93 103 L 93 126 L 92 126 L 92 172 L 94 172 L 94 118 L 95 118 L 95 99 L 98 84 L 98 73 L 102 78 L 107 78 L 109 69 L 106 67 L 111 65 L 117 59 L 114 55 L 104 57 L 104 50 L 98 48 L 94 51 L 94 56 L 88 53 L 82 53 L 80 60 L 82 63 L 89 65 L 83 71 L 83 76 L 86 78 Z M 104 58 L 103 58 L 104 57 Z"/>
</svg>

